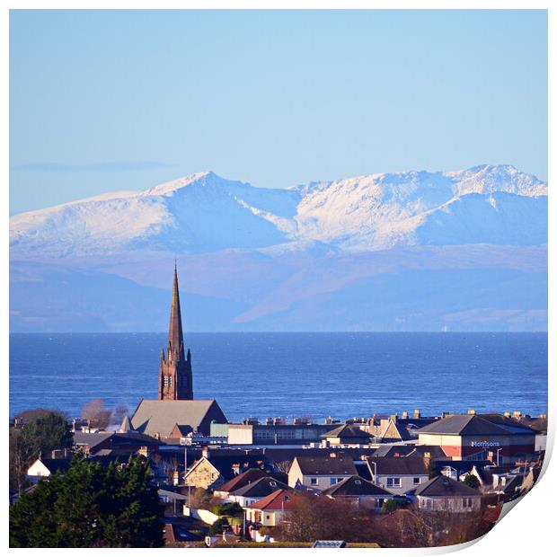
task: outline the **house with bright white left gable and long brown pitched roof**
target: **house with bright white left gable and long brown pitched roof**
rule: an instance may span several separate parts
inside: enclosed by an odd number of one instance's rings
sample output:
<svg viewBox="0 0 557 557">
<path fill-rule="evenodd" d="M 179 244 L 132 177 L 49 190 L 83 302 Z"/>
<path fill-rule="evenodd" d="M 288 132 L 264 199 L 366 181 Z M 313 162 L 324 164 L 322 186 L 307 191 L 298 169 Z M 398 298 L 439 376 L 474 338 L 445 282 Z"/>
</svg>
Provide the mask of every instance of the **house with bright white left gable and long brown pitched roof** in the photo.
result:
<svg viewBox="0 0 557 557">
<path fill-rule="evenodd" d="M 324 490 L 354 475 L 358 472 L 349 456 L 296 456 L 288 470 L 288 485 Z"/>
</svg>

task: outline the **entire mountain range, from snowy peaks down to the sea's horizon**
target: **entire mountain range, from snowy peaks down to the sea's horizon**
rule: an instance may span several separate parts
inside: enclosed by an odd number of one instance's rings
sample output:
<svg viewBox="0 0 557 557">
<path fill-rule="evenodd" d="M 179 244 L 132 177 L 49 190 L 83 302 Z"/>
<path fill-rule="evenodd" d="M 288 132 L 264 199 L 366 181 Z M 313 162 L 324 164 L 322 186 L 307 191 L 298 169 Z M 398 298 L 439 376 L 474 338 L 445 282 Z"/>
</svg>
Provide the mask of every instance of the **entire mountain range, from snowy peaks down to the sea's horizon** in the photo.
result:
<svg viewBox="0 0 557 557">
<path fill-rule="evenodd" d="M 547 327 L 547 184 L 513 166 L 255 188 L 199 172 L 10 219 L 13 331 Z"/>
</svg>

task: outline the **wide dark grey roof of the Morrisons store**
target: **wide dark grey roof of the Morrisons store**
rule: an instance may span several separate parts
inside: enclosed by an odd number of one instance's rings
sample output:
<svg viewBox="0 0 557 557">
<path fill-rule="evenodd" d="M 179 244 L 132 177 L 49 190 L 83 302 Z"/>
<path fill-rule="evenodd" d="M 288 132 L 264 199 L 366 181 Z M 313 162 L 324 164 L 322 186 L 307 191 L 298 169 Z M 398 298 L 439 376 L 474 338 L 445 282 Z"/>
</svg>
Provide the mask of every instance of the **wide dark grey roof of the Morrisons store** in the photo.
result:
<svg viewBox="0 0 557 557">
<path fill-rule="evenodd" d="M 419 433 L 446 435 L 509 435 L 530 434 L 533 429 L 526 428 L 517 420 L 505 419 L 502 416 L 455 414 L 442 420 L 434 421 L 429 426 L 418 430 Z"/>
</svg>

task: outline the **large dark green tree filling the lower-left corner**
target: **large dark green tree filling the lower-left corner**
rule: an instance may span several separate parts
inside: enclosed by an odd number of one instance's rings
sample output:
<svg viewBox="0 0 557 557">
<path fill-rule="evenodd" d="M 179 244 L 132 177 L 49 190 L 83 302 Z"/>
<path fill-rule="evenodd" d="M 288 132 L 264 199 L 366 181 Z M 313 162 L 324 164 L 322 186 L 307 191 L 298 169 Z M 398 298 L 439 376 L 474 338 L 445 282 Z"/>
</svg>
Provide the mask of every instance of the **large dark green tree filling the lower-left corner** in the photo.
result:
<svg viewBox="0 0 557 557">
<path fill-rule="evenodd" d="M 10 509 L 11 547 L 159 547 L 163 506 L 140 459 L 101 464 L 75 456 Z"/>
</svg>

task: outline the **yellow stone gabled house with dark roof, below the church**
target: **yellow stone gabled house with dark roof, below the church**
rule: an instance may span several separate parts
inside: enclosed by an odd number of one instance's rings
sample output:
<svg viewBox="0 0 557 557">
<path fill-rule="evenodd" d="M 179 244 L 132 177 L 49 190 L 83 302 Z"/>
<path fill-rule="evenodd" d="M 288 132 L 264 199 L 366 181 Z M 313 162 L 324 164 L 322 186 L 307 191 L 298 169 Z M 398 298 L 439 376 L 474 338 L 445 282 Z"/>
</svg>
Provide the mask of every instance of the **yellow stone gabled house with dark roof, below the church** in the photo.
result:
<svg viewBox="0 0 557 557">
<path fill-rule="evenodd" d="M 261 455 L 202 455 L 186 474 L 186 485 L 205 490 L 217 489 L 249 468 L 264 470 Z"/>
</svg>

